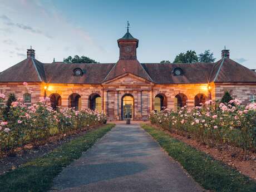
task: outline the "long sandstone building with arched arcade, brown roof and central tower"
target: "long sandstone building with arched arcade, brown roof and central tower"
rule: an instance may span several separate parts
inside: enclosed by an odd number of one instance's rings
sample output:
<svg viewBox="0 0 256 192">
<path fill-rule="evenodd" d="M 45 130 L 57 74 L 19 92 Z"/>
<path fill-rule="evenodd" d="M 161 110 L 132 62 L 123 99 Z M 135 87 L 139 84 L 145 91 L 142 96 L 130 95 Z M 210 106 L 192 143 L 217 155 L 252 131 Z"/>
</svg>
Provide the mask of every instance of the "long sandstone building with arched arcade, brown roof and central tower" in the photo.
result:
<svg viewBox="0 0 256 192">
<path fill-rule="evenodd" d="M 256 94 L 256 73 L 231 60 L 229 50 L 215 63 L 162 64 L 137 60 L 139 40 L 129 29 L 117 45 L 116 63 L 41 63 L 28 49 L 25 60 L 0 73 L 0 91 L 26 105 L 47 96 L 53 108 L 102 110 L 109 120 L 146 120 L 151 110 L 198 106 L 227 90 L 244 104 Z"/>
</svg>

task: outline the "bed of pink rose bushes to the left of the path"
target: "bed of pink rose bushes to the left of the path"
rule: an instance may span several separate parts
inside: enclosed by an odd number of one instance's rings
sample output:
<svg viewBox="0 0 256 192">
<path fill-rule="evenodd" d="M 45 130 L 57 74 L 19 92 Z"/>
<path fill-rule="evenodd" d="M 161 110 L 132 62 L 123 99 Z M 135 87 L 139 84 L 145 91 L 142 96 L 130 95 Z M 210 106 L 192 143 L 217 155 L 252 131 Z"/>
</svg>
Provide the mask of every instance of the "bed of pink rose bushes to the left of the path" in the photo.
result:
<svg viewBox="0 0 256 192">
<path fill-rule="evenodd" d="M 1 94 L 1 100 L 4 99 Z M 2 101 L 0 101 L 2 102 Z M 0 152 L 12 154 L 17 147 L 32 144 L 34 147 L 45 144 L 50 137 L 61 139 L 92 125 L 106 121 L 104 114 L 98 111 L 65 108 L 53 110 L 50 99 L 40 98 L 32 106 L 23 105 L 21 99 L 11 104 L 8 114 L 6 106 L 0 109 Z"/>
</svg>

